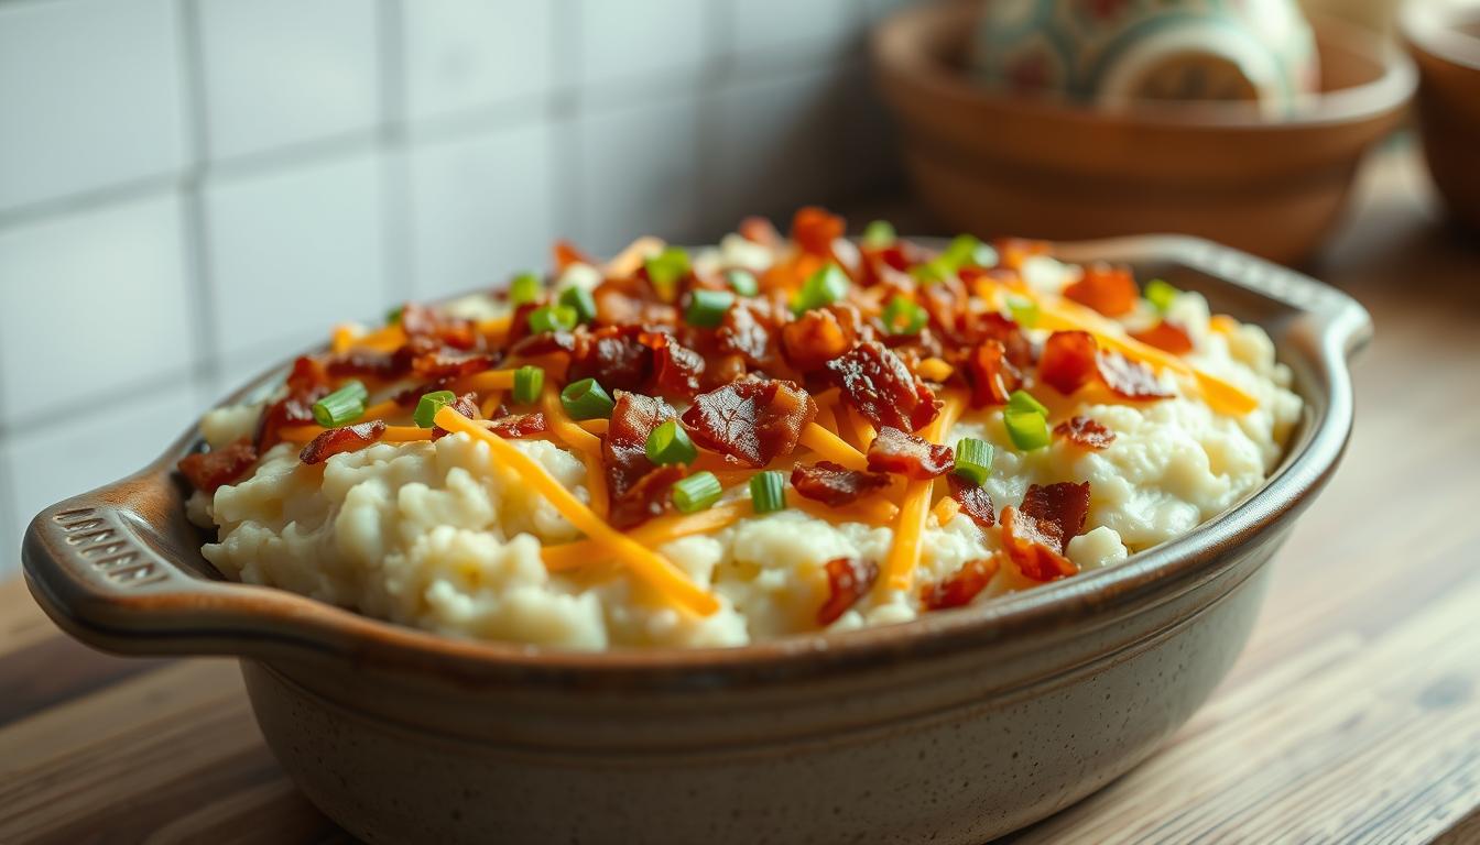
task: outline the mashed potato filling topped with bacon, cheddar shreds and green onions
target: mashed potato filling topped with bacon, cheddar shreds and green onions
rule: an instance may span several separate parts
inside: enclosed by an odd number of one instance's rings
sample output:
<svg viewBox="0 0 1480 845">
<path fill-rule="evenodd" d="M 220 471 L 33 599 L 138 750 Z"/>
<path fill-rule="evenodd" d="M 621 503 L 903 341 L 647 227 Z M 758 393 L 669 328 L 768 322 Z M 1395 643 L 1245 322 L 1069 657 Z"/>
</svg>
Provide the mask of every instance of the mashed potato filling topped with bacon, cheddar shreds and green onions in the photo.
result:
<svg viewBox="0 0 1480 845">
<path fill-rule="evenodd" d="M 1030 241 L 801 210 L 340 326 L 201 422 L 226 577 L 601 650 L 895 623 L 1072 577 L 1262 484 L 1299 414 L 1255 326 Z"/>
</svg>

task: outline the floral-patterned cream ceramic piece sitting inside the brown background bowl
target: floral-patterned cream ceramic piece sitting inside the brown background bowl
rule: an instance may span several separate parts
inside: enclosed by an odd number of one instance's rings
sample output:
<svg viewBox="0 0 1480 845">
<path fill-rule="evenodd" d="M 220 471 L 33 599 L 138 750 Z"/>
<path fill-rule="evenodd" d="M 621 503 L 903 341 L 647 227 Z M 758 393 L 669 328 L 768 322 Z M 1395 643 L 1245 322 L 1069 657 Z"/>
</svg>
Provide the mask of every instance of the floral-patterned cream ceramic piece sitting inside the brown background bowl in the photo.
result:
<svg viewBox="0 0 1480 845">
<path fill-rule="evenodd" d="M 1294 0 L 989 0 L 972 65 L 998 87 L 1106 107 L 1245 101 L 1288 114 L 1317 87 Z"/>
</svg>

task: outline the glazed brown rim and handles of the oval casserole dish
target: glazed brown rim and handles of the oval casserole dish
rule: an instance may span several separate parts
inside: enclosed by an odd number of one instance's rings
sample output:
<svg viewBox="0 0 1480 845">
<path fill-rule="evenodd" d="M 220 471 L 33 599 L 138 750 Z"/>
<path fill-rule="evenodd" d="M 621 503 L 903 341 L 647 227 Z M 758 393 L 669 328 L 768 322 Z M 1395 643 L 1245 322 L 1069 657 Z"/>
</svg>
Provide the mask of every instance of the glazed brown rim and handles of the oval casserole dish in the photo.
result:
<svg viewBox="0 0 1480 845">
<path fill-rule="evenodd" d="M 943 238 L 912 238 L 943 244 Z M 519 684 L 647 688 L 712 688 L 820 676 L 987 644 L 1014 644 L 1030 635 L 1067 630 L 1086 617 L 1110 617 L 1114 607 L 1162 602 L 1220 576 L 1237 552 L 1298 514 L 1335 471 L 1353 422 L 1350 354 L 1370 336 L 1366 311 L 1351 297 L 1295 271 L 1187 235 L 1140 235 L 1055 244 L 1070 260 L 1175 262 L 1230 292 L 1271 300 L 1295 318 L 1286 331 L 1310 334 L 1299 361 L 1304 374 L 1304 431 L 1271 477 L 1243 502 L 1190 533 L 1129 559 L 1043 585 L 983 605 L 926 614 L 913 622 L 835 633 L 802 633 L 713 648 L 614 648 L 574 651 L 457 639 L 382 622 L 284 589 L 212 580 L 191 565 L 154 556 L 173 576 L 158 589 L 129 593 L 84 571 L 93 561 L 68 519 L 87 530 L 115 518 L 161 530 L 169 514 L 145 514 L 127 503 L 129 485 L 179 488 L 173 465 L 200 442 L 194 426 L 139 474 L 90 494 L 53 505 L 33 519 L 22 561 L 33 595 L 75 636 L 107 650 L 136 654 L 311 656 L 349 659 L 443 678 L 490 676 Z M 1295 364 L 1295 363 L 1292 363 Z M 241 401 L 271 379 L 274 367 L 226 401 Z M 1314 391 L 1323 391 L 1314 392 Z M 1319 401 L 1313 401 L 1319 400 Z M 1314 410 L 1311 410 L 1314 408 Z M 1295 442 L 1295 438 L 1304 438 Z M 83 516 L 73 516 L 83 514 Z M 179 516 L 179 515 L 175 515 Z M 86 534 L 83 534 L 86 536 Z M 117 543 L 117 537 L 108 540 Z M 148 546 L 141 542 L 141 546 Z M 197 543 L 198 546 L 198 543 Z M 148 549 L 144 549 L 148 552 Z M 198 555 L 198 551 L 197 551 Z"/>
</svg>

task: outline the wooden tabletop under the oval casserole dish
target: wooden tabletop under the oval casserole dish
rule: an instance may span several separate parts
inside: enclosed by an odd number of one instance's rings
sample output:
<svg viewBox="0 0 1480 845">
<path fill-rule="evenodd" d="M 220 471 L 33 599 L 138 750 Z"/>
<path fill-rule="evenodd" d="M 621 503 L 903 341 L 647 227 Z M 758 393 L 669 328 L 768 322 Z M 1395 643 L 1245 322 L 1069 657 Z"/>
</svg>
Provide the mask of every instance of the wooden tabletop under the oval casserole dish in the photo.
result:
<svg viewBox="0 0 1480 845">
<path fill-rule="evenodd" d="M 1480 841 L 1480 244 L 1413 154 L 1314 272 L 1372 311 L 1345 465 L 1231 676 L 1151 761 L 1011 839 Z M 320 842 L 235 664 L 118 660 L 0 586 L 0 842 Z"/>
</svg>

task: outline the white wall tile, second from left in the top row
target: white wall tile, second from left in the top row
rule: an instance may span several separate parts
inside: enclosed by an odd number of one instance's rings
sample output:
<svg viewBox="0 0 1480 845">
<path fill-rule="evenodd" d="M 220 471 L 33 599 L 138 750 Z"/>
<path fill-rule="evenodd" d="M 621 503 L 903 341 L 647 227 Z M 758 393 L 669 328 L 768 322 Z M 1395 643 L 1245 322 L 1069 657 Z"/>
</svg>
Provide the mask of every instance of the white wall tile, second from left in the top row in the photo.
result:
<svg viewBox="0 0 1480 845">
<path fill-rule="evenodd" d="M 371 129 L 380 118 L 377 10 L 364 0 L 203 0 L 212 155 Z"/>
</svg>

